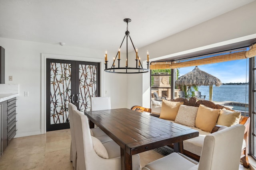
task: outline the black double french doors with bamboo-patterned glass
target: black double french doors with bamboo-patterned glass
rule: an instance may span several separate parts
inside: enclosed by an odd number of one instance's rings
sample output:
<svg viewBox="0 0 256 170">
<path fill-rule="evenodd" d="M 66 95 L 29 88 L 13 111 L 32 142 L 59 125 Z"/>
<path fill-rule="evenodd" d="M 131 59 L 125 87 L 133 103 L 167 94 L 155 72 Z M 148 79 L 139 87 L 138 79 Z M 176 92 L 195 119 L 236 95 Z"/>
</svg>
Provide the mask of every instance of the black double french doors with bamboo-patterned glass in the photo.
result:
<svg viewBox="0 0 256 170">
<path fill-rule="evenodd" d="M 100 64 L 46 59 L 46 131 L 68 129 L 68 103 L 80 111 L 100 96 Z"/>
</svg>

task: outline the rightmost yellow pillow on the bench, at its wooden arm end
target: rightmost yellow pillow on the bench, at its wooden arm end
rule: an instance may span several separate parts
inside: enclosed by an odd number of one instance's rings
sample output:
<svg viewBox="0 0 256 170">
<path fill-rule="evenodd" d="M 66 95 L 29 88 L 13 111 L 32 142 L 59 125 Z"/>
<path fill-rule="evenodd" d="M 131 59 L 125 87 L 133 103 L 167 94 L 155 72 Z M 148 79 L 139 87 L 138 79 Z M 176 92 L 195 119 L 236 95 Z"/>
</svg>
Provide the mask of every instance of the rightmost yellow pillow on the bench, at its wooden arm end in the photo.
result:
<svg viewBox="0 0 256 170">
<path fill-rule="evenodd" d="M 239 123 L 241 112 L 221 109 L 217 125 L 230 127 Z"/>
</svg>

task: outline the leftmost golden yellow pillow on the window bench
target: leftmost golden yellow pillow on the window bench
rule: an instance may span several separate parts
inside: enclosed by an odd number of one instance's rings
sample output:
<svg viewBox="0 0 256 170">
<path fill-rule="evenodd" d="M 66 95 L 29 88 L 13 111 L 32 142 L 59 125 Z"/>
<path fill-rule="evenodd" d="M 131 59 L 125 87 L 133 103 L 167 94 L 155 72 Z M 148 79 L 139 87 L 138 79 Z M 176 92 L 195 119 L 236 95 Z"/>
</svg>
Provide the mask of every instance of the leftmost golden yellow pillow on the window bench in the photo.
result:
<svg viewBox="0 0 256 170">
<path fill-rule="evenodd" d="M 167 100 L 162 100 L 162 108 L 159 118 L 175 120 L 181 104 L 184 104 L 184 102 L 170 102 Z"/>
</svg>

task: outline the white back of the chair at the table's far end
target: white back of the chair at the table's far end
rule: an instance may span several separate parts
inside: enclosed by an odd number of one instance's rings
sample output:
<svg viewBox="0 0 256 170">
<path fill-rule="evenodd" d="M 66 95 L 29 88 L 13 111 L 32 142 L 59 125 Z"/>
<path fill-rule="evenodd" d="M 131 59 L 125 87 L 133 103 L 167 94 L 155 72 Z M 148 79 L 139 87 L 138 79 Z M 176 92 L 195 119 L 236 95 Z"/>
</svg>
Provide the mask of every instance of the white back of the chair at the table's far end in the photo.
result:
<svg viewBox="0 0 256 170">
<path fill-rule="evenodd" d="M 110 97 L 94 97 L 91 98 L 91 110 L 106 110 L 111 109 Z"/>
</svg>

